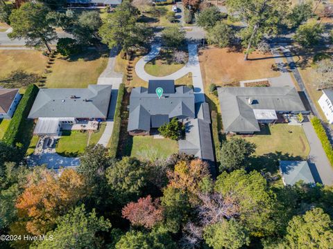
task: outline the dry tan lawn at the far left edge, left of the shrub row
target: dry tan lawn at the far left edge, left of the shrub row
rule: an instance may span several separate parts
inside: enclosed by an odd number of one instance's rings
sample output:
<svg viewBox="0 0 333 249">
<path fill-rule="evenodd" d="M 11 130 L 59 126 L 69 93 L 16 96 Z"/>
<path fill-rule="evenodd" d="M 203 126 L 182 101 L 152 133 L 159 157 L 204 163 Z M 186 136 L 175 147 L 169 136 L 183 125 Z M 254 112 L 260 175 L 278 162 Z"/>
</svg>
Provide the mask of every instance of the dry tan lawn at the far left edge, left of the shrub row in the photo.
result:
<svg viewBox="0 0 333 249">
<path fill-rule="evenodd" d="M 42 74 L 47 57 L 37 50 L 0 50 L 0 80 L 12 71 Z"/>
</svg>

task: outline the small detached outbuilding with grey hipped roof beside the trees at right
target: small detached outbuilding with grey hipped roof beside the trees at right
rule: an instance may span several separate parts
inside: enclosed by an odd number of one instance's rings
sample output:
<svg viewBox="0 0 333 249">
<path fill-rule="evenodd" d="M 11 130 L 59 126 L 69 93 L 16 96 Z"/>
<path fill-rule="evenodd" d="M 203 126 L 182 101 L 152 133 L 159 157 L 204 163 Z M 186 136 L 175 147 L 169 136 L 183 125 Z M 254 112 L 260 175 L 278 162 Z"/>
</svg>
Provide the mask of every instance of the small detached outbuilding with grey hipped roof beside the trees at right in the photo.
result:
<svg viewBox="0 0 333 249">
<path fill-rule="evenodd" d="M 298 181 L 316 183 L 306 160 L 280 160 L 279 167 L 284 185 L 295 185 Z"/>
</svg>

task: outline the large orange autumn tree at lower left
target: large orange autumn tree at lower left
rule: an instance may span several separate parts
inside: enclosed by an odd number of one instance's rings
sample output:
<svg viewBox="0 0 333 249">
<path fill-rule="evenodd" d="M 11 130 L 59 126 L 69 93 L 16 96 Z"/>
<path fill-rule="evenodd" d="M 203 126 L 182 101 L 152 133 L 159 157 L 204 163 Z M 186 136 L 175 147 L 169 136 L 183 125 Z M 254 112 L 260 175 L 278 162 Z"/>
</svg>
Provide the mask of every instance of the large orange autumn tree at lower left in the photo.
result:
<svg viewBox="0 0 333 249">
<path fill-rule="evenodd" d="M 88 194 L 85 179 L 74 169 L 65 169 L 60 176 L 44 170 L 33 177 L 19 196 L 16 208 L 26 219 L 31 234 L 45 234 L 51 230 L 59 215 L 66 214 Z"/>
</svg>

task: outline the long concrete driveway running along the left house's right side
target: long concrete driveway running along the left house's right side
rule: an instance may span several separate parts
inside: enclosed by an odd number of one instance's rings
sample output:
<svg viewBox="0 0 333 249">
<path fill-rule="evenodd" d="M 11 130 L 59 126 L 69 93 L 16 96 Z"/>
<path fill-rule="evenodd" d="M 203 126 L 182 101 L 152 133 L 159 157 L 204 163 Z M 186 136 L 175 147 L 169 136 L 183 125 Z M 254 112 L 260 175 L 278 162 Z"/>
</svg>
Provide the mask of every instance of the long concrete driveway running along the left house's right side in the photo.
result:
<svg viewBox="0 0 333 249">
<path fill-rule="evenodd" d="M 99 80 L 97 82 L 97 84 L 112 84 L 111 101 L 110 101 L 108 119 L 106 120 L 106 127 L 101 138 L 99 139 L 99 142 L 97 142 L 97 144 L 103 145 L 104 147 L 108 146 L 108 143 L 112 136 L 113 118 L 117 103 L 118 89 L 119 89 L 119 84 L 121 84 L 121 82 L 123 81 L 123 74 L 114 72 L 114 64 L 116 63 L 117 54 L 118 54 L 118 49 L 112 48 L 112 50 L 110 51 L 108 66 L 106 66 L 103 73 L 101 73 Z"/>
</svg>

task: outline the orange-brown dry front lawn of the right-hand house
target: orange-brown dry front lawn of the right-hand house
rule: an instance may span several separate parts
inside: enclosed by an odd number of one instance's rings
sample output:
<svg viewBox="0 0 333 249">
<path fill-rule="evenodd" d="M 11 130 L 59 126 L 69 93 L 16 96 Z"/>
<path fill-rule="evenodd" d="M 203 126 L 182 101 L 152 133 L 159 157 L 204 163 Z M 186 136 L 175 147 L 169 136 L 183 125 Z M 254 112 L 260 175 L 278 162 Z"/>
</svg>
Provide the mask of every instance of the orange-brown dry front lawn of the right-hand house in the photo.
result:
<svg viewBox="0 0 333 249">
<path fill-rule="evenodd" d="M 266 77 L 278 77 L 279 72 L 271 70 L 275 63 L 272 55 L 252 53 L 244 61 L 244 53 L 229 52 L 228 48 L 200 50 L 200 67 L 205 84 L 238 84 L 240 80 L 255 80 Z"/>
</svg>

